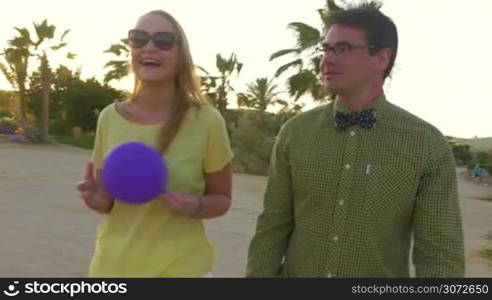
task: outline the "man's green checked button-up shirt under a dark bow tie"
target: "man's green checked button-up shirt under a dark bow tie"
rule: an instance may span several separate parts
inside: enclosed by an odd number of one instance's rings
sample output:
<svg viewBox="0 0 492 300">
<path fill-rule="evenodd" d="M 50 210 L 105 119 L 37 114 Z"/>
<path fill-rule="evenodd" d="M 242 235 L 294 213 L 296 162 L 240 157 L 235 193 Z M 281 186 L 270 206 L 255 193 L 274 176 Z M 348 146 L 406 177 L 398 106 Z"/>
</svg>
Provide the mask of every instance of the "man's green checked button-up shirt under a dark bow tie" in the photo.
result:
<svg viewBox="0 0 492 300">
<path fill-rule="evenodd" d="M 454 158 L 432 125 L 389 103 L 376 127 L 334 127 L 339 100 L 289 120 L 273 149 L 248 277 L 464 276 Z"/>
</svg>

